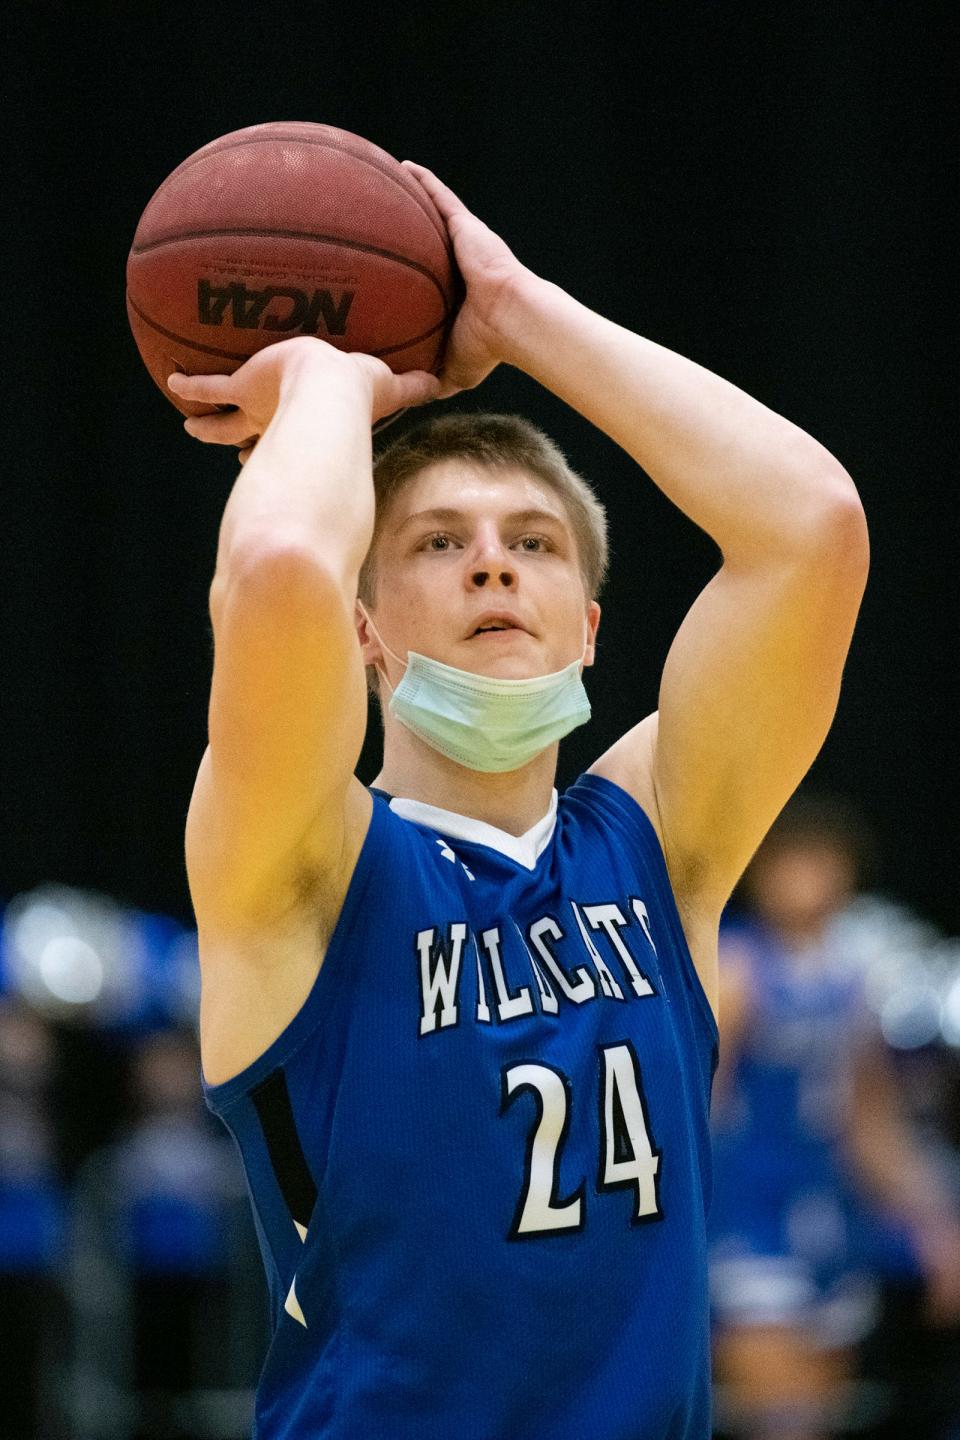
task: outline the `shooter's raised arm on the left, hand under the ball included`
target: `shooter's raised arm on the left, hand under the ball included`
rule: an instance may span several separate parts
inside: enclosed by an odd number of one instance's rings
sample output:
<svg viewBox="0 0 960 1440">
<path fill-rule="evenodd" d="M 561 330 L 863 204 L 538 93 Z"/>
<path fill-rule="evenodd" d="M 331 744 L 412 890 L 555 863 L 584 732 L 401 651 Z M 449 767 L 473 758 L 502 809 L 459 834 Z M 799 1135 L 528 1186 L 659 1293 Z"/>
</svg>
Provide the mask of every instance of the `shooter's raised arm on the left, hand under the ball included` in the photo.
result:
<svg viewBox="0 0 960 1440">
<path fill-rule="evenodd" d="M 227 501 L 210 589 L 209 747 L 187 819 L 197 919 L 214 933 L 281 920 L 341 863 L 368 801 L 353 782 L 367 701 L 354 631 L 373 533 L 371 419 L 436 390 L 320 340 L 261 351 L 233 376 L 174 376 L 233 413 L 199 439 L 261 436 Z M 353 785 L 351 785 L 353 782 Z"/>
</svg>

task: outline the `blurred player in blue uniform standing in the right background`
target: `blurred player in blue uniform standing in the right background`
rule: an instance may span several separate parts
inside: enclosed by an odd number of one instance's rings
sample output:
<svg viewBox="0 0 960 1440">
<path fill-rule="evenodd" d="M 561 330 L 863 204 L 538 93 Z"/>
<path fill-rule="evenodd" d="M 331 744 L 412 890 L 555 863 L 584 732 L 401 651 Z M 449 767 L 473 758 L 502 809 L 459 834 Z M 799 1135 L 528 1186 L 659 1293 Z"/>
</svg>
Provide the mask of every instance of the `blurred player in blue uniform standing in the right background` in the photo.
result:
<svg viewBox="0 0 960 1440">
<path fill-rule="evenodd" d="M 718 1418 L 748 1440 L 825 1440 L 851 1418 L 885 1264 L 923 1274 L 927 1325 L 960 1320 L 956 1197 L 833 924 L 872 852 L 849 805 L 794 796 L 721 930 L 711 1297 Z M 944 1416 L 934 1433 L 956 1431 Z"/>
</svg>

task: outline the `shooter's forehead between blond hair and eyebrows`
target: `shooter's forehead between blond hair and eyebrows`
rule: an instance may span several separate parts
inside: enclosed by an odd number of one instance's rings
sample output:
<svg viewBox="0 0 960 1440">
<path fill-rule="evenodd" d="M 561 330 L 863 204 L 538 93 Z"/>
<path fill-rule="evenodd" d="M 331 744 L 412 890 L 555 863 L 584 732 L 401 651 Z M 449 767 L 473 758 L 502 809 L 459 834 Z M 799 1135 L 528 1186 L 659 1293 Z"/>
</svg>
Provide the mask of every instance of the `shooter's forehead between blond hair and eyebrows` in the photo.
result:
<svg viewBox="0 0 960 1440">
<path fill-rule="evenodd" d="M 426 510 L 459 510 L 476 518 L 541 510 L 569 527 L 563 501 L 545 480 L 518 467 L 501 469 L 459 458 L 427 465 L 407 481 L 390 505 L 386 528 L 396 531 Z"/>
</svg>

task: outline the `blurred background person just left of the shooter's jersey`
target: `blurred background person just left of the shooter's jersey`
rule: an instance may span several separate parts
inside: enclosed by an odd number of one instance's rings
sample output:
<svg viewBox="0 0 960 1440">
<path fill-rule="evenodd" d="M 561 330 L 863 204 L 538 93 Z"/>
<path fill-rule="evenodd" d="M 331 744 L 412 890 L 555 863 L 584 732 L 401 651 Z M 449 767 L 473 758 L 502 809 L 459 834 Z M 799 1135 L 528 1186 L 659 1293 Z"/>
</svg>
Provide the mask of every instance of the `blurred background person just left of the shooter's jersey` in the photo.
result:
<svg viewBox="0 0 960 1440">
<path fill-rule="evenodd" d="M 127 1434 L 118 1427 L 130 1395 L 137 1434 L 181 1440 L 194 1428 L 191 1397 L 227 1385 L 226 1217 L 246 1207 L 233 1146 L 203 1104 L 199 1068 L 190 1030 L 144 1037 L 131 1053 L 131 1120 L 79 1176 L 73 1390 L 109 1397 L 99 1401 L 99 1426 L 85 1433 Z"/>
</svg>

